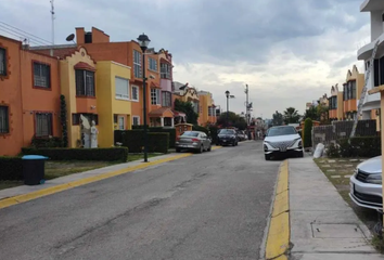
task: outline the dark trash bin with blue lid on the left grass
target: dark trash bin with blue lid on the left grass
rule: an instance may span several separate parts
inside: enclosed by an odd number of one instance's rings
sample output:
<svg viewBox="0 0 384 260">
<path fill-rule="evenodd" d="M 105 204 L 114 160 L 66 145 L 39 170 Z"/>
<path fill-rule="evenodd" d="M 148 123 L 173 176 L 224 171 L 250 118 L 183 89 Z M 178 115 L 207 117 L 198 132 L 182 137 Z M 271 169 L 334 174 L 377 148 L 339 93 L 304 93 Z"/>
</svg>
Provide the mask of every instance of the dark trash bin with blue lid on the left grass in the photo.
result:
<svg viewBox="0 0 384 260">
<path fill-rule="evenodd" d="M 23 160 L 23 177 L 25 185 L 39 185 L 44 183 L 44 166 L 49 159 L 41 155 L 25 155 Z"/>
</svg>

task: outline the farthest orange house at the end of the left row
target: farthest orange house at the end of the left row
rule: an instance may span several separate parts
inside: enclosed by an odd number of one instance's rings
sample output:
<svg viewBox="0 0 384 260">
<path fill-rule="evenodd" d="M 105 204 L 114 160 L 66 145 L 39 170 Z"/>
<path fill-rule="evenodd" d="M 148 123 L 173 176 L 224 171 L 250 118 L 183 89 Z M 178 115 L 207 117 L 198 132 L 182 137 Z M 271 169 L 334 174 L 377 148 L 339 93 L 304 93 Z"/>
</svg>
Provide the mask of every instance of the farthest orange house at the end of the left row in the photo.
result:
<svg viewBox="0 0 384 260">
<path fill-rule="evenodd" d="M 199 91 L 199 102 L 200 102 L 200 115 L 199 115 L 199 125 L 214 125 L 216 123 L 216 106 L 210 92 Z"/>
</svg>

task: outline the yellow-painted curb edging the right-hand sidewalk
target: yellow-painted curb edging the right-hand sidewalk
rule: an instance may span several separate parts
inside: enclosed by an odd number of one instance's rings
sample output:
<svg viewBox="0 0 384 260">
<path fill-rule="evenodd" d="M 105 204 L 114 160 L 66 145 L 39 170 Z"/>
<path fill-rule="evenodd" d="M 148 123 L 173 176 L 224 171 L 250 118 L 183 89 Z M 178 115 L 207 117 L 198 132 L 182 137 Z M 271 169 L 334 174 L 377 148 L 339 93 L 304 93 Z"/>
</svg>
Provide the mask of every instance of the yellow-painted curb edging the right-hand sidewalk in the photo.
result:
<svg viewBox="0 0 384 260">
<path fill-rule="evenodd" d="M 285 260 L 290 248 L 289 166 L 284 160 L 279 170 L 273 209 L 267 234 L 266 259 Z"/>
</svg>

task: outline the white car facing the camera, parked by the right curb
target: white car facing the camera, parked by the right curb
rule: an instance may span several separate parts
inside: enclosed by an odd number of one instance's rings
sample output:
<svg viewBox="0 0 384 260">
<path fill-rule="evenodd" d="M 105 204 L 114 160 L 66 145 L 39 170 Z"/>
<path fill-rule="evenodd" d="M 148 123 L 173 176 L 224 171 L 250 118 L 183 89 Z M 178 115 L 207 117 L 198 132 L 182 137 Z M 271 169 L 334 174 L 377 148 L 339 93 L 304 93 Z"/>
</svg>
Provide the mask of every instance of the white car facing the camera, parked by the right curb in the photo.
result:
<svg viewBox="0 0 384 260">
<path fill-rule="evenodd" d="M 303 157 L 303 141 L 292 126 L 271 127 L 264 138 L 264 153 L 266 160 L 272 156 L 284 154 Z"/>
</svg>

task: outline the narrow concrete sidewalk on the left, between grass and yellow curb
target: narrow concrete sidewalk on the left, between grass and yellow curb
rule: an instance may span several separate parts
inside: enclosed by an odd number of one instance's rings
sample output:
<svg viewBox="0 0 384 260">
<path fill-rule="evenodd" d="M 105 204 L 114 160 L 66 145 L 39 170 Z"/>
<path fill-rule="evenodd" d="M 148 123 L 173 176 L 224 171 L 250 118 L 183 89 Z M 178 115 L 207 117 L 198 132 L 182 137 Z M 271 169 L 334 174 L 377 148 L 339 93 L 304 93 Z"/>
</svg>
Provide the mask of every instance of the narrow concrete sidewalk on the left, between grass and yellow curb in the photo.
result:
<svg viewBox="0 0 384 260">
<path fill-rule="evenodd" d="M 88 179 L 91 177 L 100 177 L 100 176 L 108 173 L 108 172 L 120 171 L 120 170 L 128 171 L 129 169 L 141 168 L 140 166 L 145 166 L 145 165 L 148 165 L 148 167 L 154 167 L 154 166 L 163 162 L 164 160 L 167 161 L 167 160 L 172 159 L 174 157 L 176 157 L 175 159 L 177 159 L 179 157 L 182 158 L 182 157 L 188 157 L 191 154 L 188 154 L 188 153 L 166 154 L 166 155 L 161 155 L 161 156 L 149 158 L 149 162 L 146 162 L 146 164 L 143 162 L 143 159 L 140 159 L 140 160 L 113 165 L 113 166 L 103 167 L 103 168 L 99 168 L 99 169 L 94 169 L 94 170 L 90 170 L 90 171 L 84 171 L 80 173 L 74 173 L 74 174 L 48 180 L 42 185 L 34 185 L 34 186 L 22 185 L 22 186 L 5 188 L 5 190 L 0 191 L 0 202 L 5 198 L 20 196 L 20 195 L 24 195 L 24 194 L 46 190 L 46 188 L 53 188 L 53 187 L 60 186 L 62 184 L 72 183 L 75 181 L 81 181 L 81 180 L 85 180 L 85 179 Z"/>
</svg>

